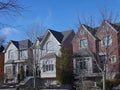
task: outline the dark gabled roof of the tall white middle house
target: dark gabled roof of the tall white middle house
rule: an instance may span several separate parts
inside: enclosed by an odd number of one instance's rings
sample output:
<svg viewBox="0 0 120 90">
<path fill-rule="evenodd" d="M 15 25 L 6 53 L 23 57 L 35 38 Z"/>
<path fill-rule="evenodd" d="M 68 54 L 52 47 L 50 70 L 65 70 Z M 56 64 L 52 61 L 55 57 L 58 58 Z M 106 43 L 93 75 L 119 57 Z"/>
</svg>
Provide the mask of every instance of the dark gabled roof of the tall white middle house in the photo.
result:
<svg viewBox="0 0 120 90">
<path fill-rule="evenodd" d="M 59 32 L 59 31 L 54 31 L 50 29 L 49 31 L 54 35 L 54 37 L 58 40 L 59 43 L 64 42 L 68 38 L 68 36 L 74 32 L 73 30 Z"/>
</svg>

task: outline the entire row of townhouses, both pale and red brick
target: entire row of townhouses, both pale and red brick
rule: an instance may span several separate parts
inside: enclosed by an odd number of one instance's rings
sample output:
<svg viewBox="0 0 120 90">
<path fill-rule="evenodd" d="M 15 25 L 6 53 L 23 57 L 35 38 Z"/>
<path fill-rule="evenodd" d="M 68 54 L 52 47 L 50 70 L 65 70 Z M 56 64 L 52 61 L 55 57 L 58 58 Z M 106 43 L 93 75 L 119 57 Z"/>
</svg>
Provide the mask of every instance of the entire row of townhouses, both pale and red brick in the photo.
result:
<svg viewBox="0 0 120 90">
<path fill-rule="evenodd" d="M 10 41 L 4 49 L 5 81 L 16 83 L 21 72 L 24 71 L 24 77 L 28 77 L 35 71 L 36 75 L 43 79 L 44 84 L 57 84 L 56 57 L 61 54 L 61 46 L 73 48 L 73 71 L 77 82 L 80 76 L 92 81 L 101 79 L 98 65 L 103 69 L 104 63 L 107 78 L 118 78 L 119 31 L 119 23 L 103 21 L 97 28 L 82 24 L 76 34 L 73 30 L 64 32 L 48 30 L 34 43 L 30 40 Z"/>
</svg>

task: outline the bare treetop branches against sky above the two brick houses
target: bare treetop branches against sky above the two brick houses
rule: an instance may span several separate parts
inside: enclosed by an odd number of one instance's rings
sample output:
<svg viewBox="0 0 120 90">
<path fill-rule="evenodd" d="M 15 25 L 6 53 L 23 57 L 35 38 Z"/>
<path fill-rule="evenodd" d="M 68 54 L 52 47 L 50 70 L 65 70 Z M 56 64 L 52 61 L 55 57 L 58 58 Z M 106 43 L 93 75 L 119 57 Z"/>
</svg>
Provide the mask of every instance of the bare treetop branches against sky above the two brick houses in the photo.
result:
<svg viewBox="0 0 120 90">
<path fill-rule="evenodd" d="M 102 24 L 104 20 L 107 20 L 111 23 L 120 21 L 120 14 L 118 12 L 115 13 L 114 10 L 109 11 L 106 7 L 103 7 L 101 10 L 99 10 L 98 16 L 99 17 L 96 17 L 94 15 L 84 15 L 83 13 L 79 15 L 79 13 L 77 13 L 78 22 L 75 24 L 75 27 L 78 29 L 81 24 L 97 27 Z"/>
</svg>

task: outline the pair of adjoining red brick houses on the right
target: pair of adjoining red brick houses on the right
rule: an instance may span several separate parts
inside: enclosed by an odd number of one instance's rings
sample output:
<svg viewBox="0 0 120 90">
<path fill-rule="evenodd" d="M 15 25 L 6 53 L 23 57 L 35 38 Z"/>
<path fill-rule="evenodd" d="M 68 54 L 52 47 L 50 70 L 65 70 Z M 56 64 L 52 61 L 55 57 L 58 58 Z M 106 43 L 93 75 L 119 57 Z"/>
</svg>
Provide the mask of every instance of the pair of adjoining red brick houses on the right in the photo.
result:
<svg viewBox="0 0 120 90">
<path fill-rule="evenodd" d="M 107 79 L 119 78 L 119 23 L 112 24 L 103 21 L 101 26 L 97 28 L 82 24 L 72 43 L 76 84 L 79 85 L 81 80 L 94 82 L 100 80 L 102 78 L 100 69 L 106 70 Z"/>
</svg>

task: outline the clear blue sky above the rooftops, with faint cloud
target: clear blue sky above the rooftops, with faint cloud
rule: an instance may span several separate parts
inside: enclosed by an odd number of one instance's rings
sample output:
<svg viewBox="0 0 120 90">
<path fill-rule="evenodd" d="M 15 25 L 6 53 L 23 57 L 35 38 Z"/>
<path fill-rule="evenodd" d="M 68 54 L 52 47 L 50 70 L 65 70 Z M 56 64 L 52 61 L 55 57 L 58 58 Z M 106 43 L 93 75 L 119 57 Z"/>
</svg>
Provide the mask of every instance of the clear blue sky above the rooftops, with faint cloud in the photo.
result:
<svg viewBox="0 0 120 90">
<path fill-rule="evenodd" d="M 104 7 L 120 13 L 120 0 L 19 0 L 27 7 L 22 16 L 4 17 L 2 22 L 14 27 L 2 27 L 0 33 L 6 41 L 25 39 L 25 31 L 35 23 L 44 23 L 47 28 L 64 31 L 76 30 L 78 16 L 92 15 L 98 19 Z"/>
</svg>

